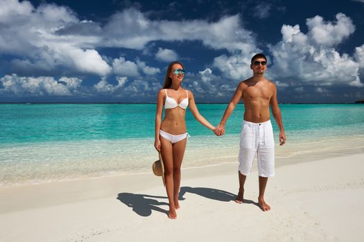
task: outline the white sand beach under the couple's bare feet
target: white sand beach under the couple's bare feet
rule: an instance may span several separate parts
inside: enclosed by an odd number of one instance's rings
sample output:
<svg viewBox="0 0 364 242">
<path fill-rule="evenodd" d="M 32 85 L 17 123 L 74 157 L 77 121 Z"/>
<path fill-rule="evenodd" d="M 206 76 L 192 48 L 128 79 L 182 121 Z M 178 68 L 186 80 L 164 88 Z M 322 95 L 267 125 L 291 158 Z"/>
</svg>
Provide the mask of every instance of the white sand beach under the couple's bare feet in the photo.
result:
<svg viewBox="0 0 364 242">
<path fill-rule="evenodd" d="M 0 188 L 1 241 L 364 241 L 364 153 L 277 167 L 257 206 L 257 172 L 184 169 L 177 219 L 150 174 Z"/>
</svg>

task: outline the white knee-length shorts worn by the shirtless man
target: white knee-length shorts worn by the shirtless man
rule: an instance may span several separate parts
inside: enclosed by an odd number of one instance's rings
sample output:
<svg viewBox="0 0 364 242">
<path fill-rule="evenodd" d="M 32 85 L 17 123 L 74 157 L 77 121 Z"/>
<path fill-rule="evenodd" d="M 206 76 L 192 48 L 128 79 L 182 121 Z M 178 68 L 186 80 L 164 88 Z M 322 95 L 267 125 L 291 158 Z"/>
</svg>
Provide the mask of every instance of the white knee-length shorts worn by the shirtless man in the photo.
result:
<svg viewBox="0 0 364 242">
<path fill-rule="evenodd" d="M 270 120 L 262 123 L 243 121 L 240 135 L 239 171 L 250 174 L 255 154 L 258 153 L 259 176 L 275 176 L 275 140 Z"/>
</svg>

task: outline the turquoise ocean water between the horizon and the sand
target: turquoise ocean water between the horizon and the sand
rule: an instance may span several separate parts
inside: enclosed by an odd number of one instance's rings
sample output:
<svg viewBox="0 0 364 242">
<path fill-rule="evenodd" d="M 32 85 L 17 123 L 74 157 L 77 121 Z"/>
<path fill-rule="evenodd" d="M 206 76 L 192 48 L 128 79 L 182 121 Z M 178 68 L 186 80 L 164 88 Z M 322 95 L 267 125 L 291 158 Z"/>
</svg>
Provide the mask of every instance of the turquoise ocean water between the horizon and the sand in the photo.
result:
<svg viewBox="0 0 364 242">
<path fill-rule="evenodd" d="M 226 106 L 198 104 L 198 109 L 216 125 Z M 361 104 L 280 108 L 290 143 L 364 136 Z M 187 151 L 202 154 L 195 166 L 206 165 L 206 154 L 216 158 L 221 153 L 223 160 L 239 146 L 243 111 L 239 104 L 227 122 L 227 135 L 219 138 L 187 111 Z M 155 104 L 0 104 L 0 186 L 148 172 L 156 158 L 154 119 Z"/>
</svg>

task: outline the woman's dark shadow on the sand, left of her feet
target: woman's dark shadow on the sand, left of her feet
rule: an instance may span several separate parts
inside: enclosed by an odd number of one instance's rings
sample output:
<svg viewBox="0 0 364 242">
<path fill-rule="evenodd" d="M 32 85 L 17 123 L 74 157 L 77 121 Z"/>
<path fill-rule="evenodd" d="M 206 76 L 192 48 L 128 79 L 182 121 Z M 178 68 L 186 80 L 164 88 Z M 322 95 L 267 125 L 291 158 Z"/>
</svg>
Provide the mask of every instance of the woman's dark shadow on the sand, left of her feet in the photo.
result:
<svg viewBox="0 0 364 242">
<path fill-rule="evenodd" d="M 166 196 L 151 196 L 146 194 L 131 194 L 123 192 L 118 194 L 118 199 L 121 203 L 124 203 L 128 207 L 132 207 L 132 211 L 140 216 L 150 216 L 152 210 L 168 214 L 168 210 L 164 210 L 159 205 L 167 205 L 168 203 L 159 202 L 152 198 L 167 198 Z"/>
</svg>

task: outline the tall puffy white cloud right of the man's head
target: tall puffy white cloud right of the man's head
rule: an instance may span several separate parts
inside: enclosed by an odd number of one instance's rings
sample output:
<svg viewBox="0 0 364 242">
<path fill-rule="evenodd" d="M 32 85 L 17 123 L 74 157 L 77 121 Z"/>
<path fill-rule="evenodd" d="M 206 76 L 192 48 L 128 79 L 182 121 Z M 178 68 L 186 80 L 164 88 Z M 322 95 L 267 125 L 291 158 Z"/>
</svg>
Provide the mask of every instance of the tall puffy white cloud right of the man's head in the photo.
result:
<svg viewBox="0 0 364 242">
<path fill-rule="evenodd" d="M 354 31 L 349 17 L 338 14 L 336 18 L 336 24 L 324 23 L 319 16 L 307 19 L 307 34 L 298 25 L 282 26 L 282 40 L 269 46 L 274 62 L 270 68 L 272 77 L 286 84 L 300 81 L 318 86 L 364 86 L 359 78 L 359 64 L 332 47 Z"/>
</svg>

